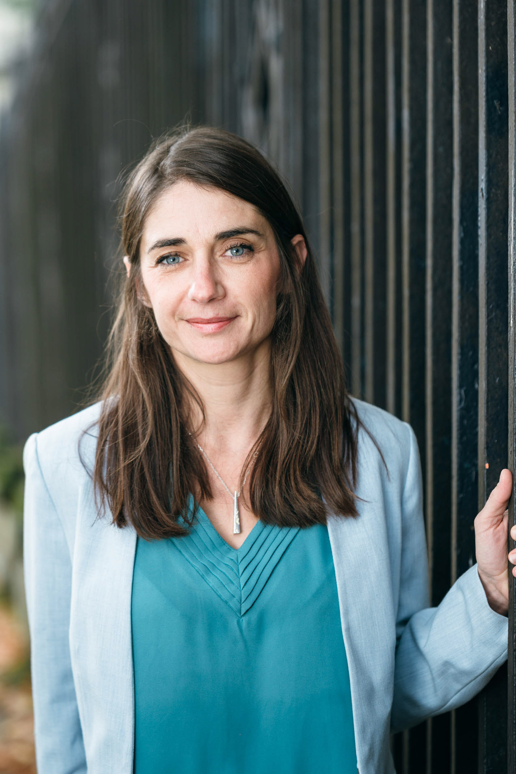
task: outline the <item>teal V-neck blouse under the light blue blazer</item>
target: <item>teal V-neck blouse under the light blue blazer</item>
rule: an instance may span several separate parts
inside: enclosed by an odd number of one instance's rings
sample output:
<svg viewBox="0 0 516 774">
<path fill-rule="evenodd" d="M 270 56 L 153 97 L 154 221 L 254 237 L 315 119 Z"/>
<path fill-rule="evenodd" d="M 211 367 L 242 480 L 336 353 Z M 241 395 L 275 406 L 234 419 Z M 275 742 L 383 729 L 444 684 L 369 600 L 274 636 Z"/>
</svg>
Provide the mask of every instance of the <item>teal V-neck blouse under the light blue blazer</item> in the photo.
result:
<svg viewBox="0 0 516 774">
<path fill-rule="evenodd" d="M 326 526 L 138 538 L 135 774 L 356 774 Z"/>
</svg>

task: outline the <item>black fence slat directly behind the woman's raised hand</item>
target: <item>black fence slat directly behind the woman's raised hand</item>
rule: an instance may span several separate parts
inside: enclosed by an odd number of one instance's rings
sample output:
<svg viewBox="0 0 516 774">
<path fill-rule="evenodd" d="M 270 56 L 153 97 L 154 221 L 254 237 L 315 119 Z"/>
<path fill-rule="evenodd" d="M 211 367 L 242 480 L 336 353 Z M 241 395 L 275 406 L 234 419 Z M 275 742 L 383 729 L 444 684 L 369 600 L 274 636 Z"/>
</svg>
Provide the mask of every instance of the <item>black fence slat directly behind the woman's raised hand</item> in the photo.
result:
<svg viewBox="0 0 516 774">
<path fill-rule="evenodd" d="M 479 509 L 507 464 L 507 5 L 480 0 Z M 479 771 L 507 768 L 507 666 L 479 697 Z"/>
</svg>

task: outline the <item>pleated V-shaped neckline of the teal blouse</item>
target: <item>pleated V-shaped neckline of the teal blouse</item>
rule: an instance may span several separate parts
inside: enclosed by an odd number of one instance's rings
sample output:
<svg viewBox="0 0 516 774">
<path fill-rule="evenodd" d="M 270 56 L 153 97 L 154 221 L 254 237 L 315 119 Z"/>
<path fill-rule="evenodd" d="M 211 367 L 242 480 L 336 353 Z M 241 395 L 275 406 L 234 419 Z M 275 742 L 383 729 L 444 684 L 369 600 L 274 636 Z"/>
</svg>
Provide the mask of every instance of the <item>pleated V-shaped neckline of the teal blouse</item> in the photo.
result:
<svg viewBox="0 0 516 774">
<path fill-rule="evenodd" d="M 265 587 L 269 577 L 299 532 L 258 521 L 244 543 L 234 548 L 217 532 L 199 506 L 186 536 L 171 538 L 203 580 L 241 618 Z"/>
</svg>

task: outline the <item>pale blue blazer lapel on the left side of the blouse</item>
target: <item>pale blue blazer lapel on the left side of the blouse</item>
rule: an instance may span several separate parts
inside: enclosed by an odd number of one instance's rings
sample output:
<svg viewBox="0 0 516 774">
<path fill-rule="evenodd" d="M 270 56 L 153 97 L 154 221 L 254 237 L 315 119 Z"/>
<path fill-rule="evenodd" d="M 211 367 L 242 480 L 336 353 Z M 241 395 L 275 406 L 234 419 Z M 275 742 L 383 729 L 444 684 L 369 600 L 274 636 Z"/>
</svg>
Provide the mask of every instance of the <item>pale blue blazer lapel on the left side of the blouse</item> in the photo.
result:
<svg viewBox="0 0 516 774">
<path fill-rule="evenodd" d="M 131 593 L 136 533 L 96 518 L 91 481 L 77 513 L 70 652 L 90 774 L 132 774 Z"/>
</svg>

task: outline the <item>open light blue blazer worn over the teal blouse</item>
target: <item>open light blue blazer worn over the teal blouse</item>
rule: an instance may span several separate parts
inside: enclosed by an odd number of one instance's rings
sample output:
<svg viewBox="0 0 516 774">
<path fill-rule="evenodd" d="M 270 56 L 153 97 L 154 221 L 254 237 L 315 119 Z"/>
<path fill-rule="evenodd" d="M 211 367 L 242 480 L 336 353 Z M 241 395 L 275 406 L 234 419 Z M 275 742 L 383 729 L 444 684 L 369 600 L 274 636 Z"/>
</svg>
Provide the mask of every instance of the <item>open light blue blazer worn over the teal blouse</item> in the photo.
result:
<svg viewBox="0 0 516 774">
<path fill-rule="evenodd" d="M 429 608 L 412 428 L 357 401 L 359 516 L 329 514 L 360 774 L 392 774 L 389 733 L 463 704 L 507 658 L 507 618 L 477 566 Z M 96 519 L 77 453 L 99 405 L 27 441 L 26 598 L 39 774 L 132 774 L 131 587 L 136 533 Z M 91 466 L 95 432 L 81 451 Z M 472 514 L 473 518 L 473 514 Z M 168 774 L 168 772 L 167 772 Z"/>
</svg>

